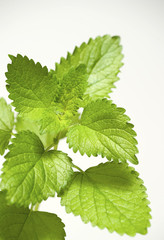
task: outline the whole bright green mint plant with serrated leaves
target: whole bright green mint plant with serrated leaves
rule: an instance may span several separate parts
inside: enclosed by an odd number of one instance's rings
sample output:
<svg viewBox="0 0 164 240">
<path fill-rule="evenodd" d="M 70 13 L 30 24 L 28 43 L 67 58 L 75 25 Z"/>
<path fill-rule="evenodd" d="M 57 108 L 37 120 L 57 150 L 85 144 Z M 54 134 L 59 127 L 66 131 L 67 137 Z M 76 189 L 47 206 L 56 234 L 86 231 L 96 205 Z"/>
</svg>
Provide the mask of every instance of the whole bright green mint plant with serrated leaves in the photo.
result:
<svg viewBox="0 0 164 240">
<path fill-rule="evenodd" d="M 121 51 L 119 37 L 97 37 L 50 71 L 26 56 L 9 55 L 6 83 L 17 114 L 0 99 L 0 154 L 8 149 L 0 184 L 1 239 L 65 239 L 61 219 L 38 210 L 54 196 L 84 223 L 130 236 L 147 233 L 146 188 L 128 163 L 138 164 L 136 133 L 125 110 L 109 99 Z M 100 164 L 86 171 L 76 166 L 57 150 L 65 137 L 75 153 L 99 156 Z"/>
</svg>

